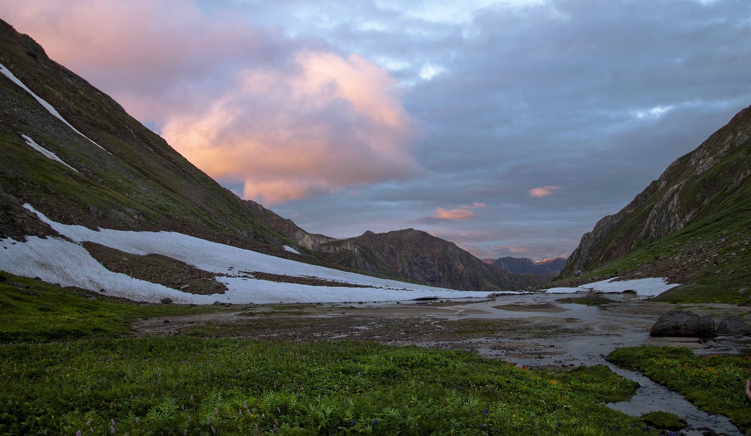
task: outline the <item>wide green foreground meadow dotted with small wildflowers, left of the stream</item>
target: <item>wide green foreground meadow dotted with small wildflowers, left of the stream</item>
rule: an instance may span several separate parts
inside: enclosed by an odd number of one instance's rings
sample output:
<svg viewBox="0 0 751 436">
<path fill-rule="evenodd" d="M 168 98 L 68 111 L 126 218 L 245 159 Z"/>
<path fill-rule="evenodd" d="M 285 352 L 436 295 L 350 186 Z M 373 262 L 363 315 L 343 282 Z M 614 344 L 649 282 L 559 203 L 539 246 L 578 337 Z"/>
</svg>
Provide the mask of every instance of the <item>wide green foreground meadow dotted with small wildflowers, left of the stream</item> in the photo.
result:
<svg viewBox="0 0 751 436">
<path fill-rule="evenodd" d="M 107 339 L 0 348 L 0 433 L 602 434 L 641 428 L 603 401 L 604 366 L 528 371 L 372 343 Z"/>
</svg>

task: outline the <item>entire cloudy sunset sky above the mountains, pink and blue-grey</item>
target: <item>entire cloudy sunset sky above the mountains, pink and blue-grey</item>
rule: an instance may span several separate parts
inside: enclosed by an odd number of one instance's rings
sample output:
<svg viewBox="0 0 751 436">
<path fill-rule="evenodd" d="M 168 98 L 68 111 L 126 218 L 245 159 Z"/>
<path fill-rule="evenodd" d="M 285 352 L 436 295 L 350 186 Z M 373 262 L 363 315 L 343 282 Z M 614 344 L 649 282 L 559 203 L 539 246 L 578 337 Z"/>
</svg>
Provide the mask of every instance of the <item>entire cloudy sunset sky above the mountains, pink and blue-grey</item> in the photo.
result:
<svg viewBox="0 0 751 436">
<path fill-rule="evenodd" d="M 0 0 L 308 232 L 566 257 L 751 104 L 748 0 Z"/>
</svg>

